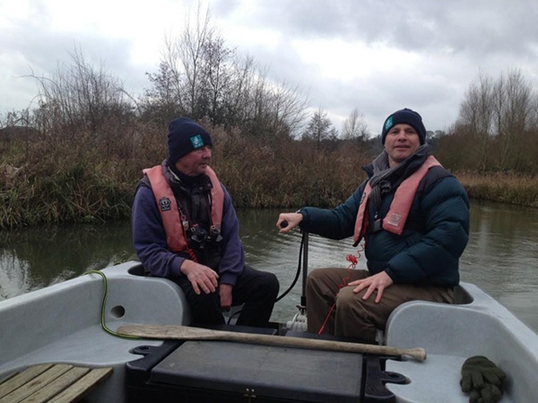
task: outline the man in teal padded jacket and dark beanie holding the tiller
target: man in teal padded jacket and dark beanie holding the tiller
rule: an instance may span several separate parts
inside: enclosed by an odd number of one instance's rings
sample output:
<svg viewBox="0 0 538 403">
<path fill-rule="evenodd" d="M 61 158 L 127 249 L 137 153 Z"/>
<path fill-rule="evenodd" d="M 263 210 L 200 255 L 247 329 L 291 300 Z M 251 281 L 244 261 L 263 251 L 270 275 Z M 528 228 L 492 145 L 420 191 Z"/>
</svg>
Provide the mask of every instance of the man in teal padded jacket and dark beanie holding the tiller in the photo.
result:
<svg viewBox="0 0 538 403">
<path fill-rule="evenodd" d="M 454 303 L 469 237 L 464 187 L 430 156 L 422 118 L 412 109 L 386 118 L 381 141 L 383 152 L 362 167 L 368 178 L 347 201 L 334 210 L 283 213 L 277 221 L 288 222 L 281 233 L 300 226 L 332 239 L 354 236 L 355 246 L 364 240 L 368 270 L 308 276 L 308 331 L 374 341 L 404 302 Z"/>
</svg>

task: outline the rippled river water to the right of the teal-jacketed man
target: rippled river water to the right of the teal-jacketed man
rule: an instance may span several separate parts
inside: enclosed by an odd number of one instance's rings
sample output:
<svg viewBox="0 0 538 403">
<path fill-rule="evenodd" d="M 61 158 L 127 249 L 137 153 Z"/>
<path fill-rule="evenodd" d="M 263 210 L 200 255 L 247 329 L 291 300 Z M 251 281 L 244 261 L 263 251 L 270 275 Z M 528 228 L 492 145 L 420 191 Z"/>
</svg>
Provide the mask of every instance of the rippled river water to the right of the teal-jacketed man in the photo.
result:
<svg viewBox="0 0 538 403">
<path fill-rule="evenodd" d="M 473 202 L 461 276 L 538 330 L 538 209 Z"/>
</svg>

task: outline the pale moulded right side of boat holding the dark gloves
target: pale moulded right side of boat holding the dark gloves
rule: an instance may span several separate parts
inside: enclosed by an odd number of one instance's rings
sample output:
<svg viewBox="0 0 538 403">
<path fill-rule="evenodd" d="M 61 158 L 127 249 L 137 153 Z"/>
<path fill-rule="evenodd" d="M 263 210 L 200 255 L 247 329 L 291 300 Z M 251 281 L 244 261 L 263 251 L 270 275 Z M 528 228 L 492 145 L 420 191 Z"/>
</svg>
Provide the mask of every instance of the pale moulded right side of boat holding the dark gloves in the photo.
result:
<svg viewBox="0 0 538 403">
<path fill-rule="evenodd" d="M 466 403 L 469 395 L 459 384 L 462 365 L 471 356 L 487 356 L 507 373 L 503 402 L 535 401 L 536 335 L 478 287 L 464 284 L 464 288 L 470 291 L 468 304 L 413 301 L 391 314 L 386 344 L 423 347 L 428 358 L 387 360 L 386 371 L 401 373 L 408 380 L 387 389 L 398 401 L 408 403 Z"/>
</svg>

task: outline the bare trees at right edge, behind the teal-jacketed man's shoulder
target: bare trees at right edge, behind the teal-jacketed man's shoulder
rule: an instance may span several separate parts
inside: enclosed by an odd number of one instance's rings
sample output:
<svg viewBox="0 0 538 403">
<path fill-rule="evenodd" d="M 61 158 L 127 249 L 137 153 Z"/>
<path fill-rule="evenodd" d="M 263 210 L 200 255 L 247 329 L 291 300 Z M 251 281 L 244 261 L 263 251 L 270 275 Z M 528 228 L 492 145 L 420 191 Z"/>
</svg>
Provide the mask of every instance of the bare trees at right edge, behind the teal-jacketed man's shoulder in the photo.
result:
<svg viewBox="0 0 538 403">
<path fill-rule="evenodd" d="M 536 97 L 518 70 L 495 81 L 480 73 L 465 93 L 452 133 L 440 142 L 443 147 L 457 142 L 459 150 L 471 151 L 457 159 L 459 168 L 535 172 Z M 446 150 L 442 153 L 447 155 Z"/>
</svg>

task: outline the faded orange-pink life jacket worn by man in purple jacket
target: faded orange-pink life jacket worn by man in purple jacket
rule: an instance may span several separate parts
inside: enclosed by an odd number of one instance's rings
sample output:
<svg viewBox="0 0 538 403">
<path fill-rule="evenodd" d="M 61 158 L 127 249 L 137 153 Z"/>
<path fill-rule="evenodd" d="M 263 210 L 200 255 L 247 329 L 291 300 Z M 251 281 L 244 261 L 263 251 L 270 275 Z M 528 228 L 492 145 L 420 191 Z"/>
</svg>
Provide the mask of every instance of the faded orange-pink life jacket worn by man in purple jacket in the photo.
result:
<svg viewBox="0 0 538 403">
<path fill-rule="evenodd" d="M 143 169 L 143 173 L 148 176 L 152 185 L 153 196 L 159 204 L 162 225 L 166 232 L 166 247 L 171 252 L 181 252 L 187 249 L 187 239 L 183 231 L 182 217 L 178 209 L 178 201 L 172 192 L 162 166 Z M 207 167 L 207 176 L 211 179 L 213 188 L 211 189 L 211 220 L 213 227 L 221 231 L 222 210 L 224 207 L 224 191 L 221 183 L 211 167 Z M 183 218 L 185 219 L 185 218 Z"/>
</svg>

